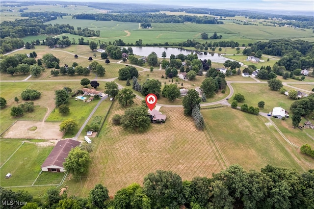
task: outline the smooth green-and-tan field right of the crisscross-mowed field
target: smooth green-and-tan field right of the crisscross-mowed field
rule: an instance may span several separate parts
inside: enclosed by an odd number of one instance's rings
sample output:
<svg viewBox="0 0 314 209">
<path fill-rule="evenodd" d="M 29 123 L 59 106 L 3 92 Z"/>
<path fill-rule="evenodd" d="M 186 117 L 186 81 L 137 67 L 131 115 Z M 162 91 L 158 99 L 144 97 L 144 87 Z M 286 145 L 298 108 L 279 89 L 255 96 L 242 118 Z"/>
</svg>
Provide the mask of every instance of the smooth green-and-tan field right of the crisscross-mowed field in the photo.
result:
<svg viewBox="0 0 314 209">
<path fill-rule="evenodd" d="M 207 130 L 212 135 L 227 164 L 260 170 L 267 164 L 303 171 L 272 134 L 267 119 L 230 107 L 201 110 Z"/>
</svg>

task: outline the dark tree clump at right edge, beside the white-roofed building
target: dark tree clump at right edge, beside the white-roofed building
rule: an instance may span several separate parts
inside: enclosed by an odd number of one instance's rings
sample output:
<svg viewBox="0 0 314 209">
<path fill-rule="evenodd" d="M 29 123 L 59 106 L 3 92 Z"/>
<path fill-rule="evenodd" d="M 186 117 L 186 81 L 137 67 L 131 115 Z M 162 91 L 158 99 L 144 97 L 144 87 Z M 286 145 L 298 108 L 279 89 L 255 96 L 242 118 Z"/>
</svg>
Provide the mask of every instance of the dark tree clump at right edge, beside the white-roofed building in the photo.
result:
<svg viewBox="0 0 314 209">
<path fill-rule="evenodd" d="M 301 116 L 310 115 L 314 110 L 314 94 L 304 97 L 300 100 L 294 101 L 290 105 L 292 113 L 292 126 L 297 128 L 301 122 Z"/>
</svg>

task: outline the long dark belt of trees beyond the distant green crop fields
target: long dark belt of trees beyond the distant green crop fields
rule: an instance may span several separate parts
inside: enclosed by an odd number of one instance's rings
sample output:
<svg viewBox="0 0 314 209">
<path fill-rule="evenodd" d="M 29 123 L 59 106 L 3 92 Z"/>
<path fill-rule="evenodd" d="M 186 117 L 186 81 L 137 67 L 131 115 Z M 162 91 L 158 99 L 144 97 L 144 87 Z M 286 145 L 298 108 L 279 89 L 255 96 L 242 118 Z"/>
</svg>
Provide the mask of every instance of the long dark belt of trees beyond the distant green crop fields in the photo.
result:
<svg viewBox="0 0 314 209">
<path fill-rule="evenodd" d="M 129 13 L 125 14 L 76 14 L 75 19 L 97 20 L 97 21 L 118 21 L 131 23 L 184 23 L 192 22 L 197 24 L 223 24 L 222 21 L 217 21 L 210 16 L 196 15 L 167 15 L 165 13 L 150 14 L 150 13 Z"/>
</svg>

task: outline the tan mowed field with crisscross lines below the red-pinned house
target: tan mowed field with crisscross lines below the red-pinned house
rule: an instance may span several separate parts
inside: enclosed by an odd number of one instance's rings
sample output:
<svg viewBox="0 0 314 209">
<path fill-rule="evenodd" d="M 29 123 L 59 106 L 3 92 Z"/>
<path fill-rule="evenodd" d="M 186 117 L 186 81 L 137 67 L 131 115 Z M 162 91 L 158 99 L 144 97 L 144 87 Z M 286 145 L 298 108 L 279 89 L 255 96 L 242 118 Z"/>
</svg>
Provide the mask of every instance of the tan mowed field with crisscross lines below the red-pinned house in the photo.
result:
<svg viewBox="0 0 314 209">
<path fill-rule="evenodd" d="M 136 100 L 134 105 L 139 103 Z M 144 133 L 132 133 L 111 123 L 113 115 L 124 113 L 124 108 L 114 104 L 101 137 L 95 138 L 100 144 L 91 154 L 93 160 L 83 178 L 83 188 L 78 186 L 79 181 L 70 181 L 77 184 L 69 187 L 70 192 L 87 196 L 95 184 L 102 183 L 113 195 L 131 183 L 142 183 L 148 173 L 160 169 L 191 180 L 224 168 L 207 132 L 197 131 L 192 119 L 183 115 L 183 108 L 162 107 L 160 111 L 167 115 L 165 124 L 152 124 Z"/>
</svg>

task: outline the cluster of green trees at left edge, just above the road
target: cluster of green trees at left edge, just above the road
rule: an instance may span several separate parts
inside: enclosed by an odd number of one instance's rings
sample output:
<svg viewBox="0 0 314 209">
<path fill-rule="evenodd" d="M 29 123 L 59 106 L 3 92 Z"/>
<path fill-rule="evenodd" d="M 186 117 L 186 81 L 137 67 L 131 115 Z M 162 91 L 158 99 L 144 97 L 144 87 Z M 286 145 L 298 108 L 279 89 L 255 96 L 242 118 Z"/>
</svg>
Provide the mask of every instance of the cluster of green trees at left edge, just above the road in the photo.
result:
<svg viewBox="0 0 314 209">
<path fill-rule="evenodd" d="M 36 52 L 31 52 L 32 56 L 37 56 Z M 30 72 L 33 76 L 38 76 L 44 71 L 41 59 L 37 61 L 26 54 L 14 54 L 13 56 L 3 56 L 0 60 L 1 72 L 11 74 L 27 74 Z"/>
</svg>

